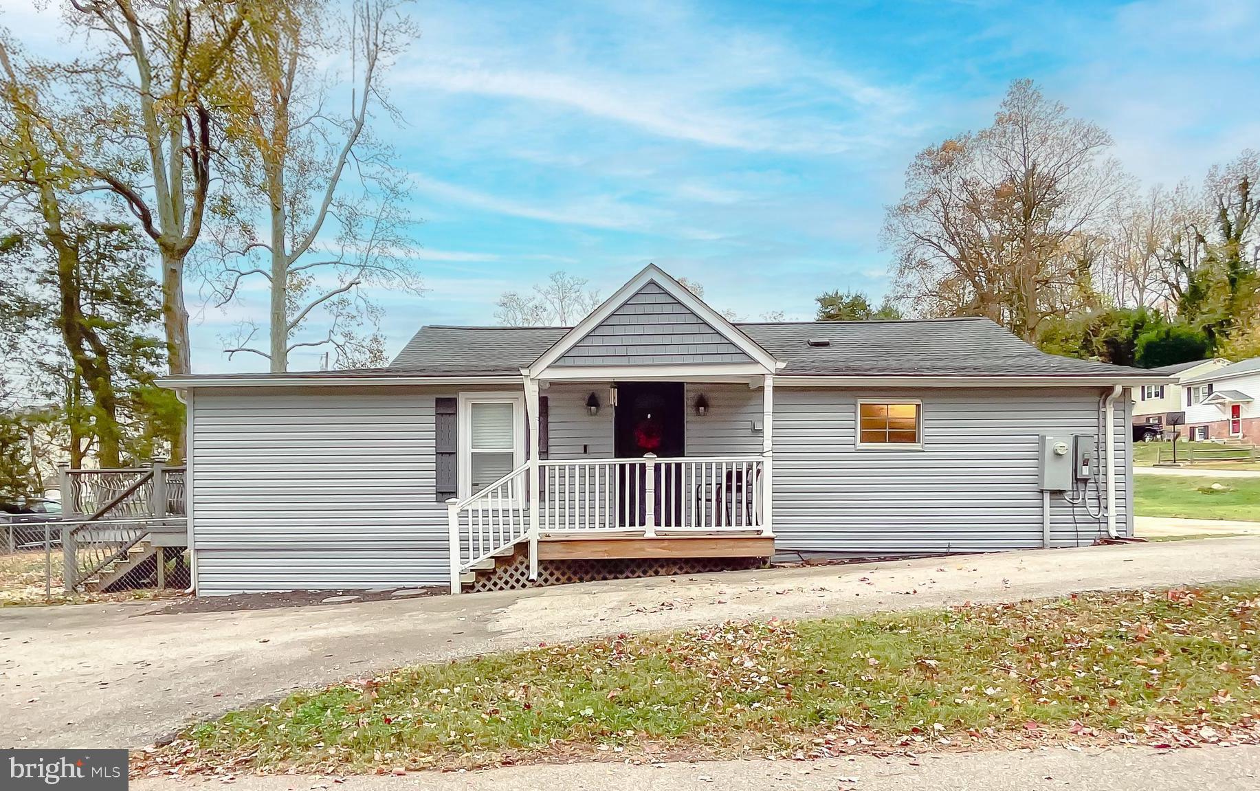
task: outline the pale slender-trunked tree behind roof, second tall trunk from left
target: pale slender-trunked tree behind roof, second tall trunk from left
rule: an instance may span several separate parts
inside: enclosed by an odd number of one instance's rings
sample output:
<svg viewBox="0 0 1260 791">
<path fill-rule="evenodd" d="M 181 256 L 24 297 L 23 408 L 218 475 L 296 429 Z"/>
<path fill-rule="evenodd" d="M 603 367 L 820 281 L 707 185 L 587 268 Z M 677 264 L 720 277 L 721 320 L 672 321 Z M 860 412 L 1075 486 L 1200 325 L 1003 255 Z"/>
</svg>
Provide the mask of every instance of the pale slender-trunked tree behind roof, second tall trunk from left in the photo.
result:
<svg viewBox="0 0 1260 791">
<path fill-rule="evenodd" d="M 265 280 L 270 291 L 268 343 L 255 345 L 246 322 L 226 348 L 267 358 L 272 372 L 289 368 L 297 348 L 328 348 L 340 368 L 379 363 L 379 310 L 367 291 L 423 292 L 408 257 L 404 180 L 393 152 L 373 140 L 373 113 L 396 110 L 382 89 L 388 64 L 416 38 L 396 0 L 358 0 L 348 30 L 339 9 L 324 0 L 290 0 L 251 19 L 243 34 L 241 97 L 241 203 L 215 228 L 217 266 L 210 281 L 219 304 L 242 283 Z M 350 110 L 329 108 L 323 59 L 348 52 Z M 268 219 L 260 234 L 249 220 L 249 196 L 263 199 Z M 260 238 L 261 237 L 261 238 Z M 323 331 L 311 331 L 321 324 Z"/>
</svg>

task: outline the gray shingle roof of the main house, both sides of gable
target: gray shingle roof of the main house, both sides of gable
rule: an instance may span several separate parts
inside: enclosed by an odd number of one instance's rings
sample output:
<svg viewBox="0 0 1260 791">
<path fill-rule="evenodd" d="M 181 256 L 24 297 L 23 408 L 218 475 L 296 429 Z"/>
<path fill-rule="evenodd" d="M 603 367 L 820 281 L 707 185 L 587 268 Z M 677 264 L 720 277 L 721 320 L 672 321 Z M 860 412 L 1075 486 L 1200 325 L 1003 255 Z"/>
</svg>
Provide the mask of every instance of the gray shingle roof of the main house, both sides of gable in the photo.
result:
<svg viewBox="0 0 1260 791">
<path fill-rule="evenodd" d="M 737 324 L 785 375 L 1150 375 L 1152 372 L 1046 354 L 988 319 L 788 321 Z M 515 373 L 567 327 L 426 326 L 391 370 L 431 374 Z M 810 345 L 828 340 L 830 345 Z"/>
</svg>

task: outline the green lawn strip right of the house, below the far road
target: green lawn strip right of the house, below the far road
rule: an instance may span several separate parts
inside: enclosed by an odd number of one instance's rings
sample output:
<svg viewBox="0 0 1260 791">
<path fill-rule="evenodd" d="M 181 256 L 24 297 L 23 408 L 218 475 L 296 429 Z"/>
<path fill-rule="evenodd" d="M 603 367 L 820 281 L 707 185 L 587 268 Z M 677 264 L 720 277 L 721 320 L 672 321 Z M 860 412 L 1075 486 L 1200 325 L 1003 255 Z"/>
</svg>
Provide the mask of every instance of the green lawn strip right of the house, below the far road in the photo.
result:
<svg viewBox="0 0 1260 791">
<path fill-rule="evenodd" d="M 1212 489 L 1221 484 L 1222 489 Z M 1260 479 L 1135 475 L 1133 513 L 1179 519 L 1260 519 Z"/>
</svg>

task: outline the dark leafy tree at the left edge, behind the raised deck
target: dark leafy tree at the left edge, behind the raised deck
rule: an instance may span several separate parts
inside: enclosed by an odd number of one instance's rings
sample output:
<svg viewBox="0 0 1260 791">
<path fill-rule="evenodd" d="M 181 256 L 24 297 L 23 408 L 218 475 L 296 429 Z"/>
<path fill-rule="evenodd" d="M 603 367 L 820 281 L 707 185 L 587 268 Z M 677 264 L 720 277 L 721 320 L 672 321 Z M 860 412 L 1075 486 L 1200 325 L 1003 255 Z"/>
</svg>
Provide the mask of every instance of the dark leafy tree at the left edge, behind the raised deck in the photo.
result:
<svg viewBox="0 0 1260 791">
<path fill-rule="evenodd" d="M 183 408 L 155 384 L 166 346 L 145 244 L 129 225 L 78 213 L 62 233 L 58 244 L 21 230 L 0 238 L 0 309 L 9 316 L 0 343 L 21 373 L 26 403 L 58 404 L 62 430 L 40 433 L 60 438 L 72 466 L 88 455 L 101 466 L 165 455 Z M 47 409 L 14 413 L 32 427 L 35 418 L 49 422 Z"/>
</svg>

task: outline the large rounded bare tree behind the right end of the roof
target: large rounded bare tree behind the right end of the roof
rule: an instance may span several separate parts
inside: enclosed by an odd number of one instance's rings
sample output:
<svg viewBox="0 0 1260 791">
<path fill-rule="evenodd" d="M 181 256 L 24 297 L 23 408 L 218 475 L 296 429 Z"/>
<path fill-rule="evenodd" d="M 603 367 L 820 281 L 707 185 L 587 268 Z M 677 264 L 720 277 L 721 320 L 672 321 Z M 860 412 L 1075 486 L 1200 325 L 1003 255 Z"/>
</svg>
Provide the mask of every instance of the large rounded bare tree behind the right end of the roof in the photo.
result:
<svg viewBox="0 0 1260 791">
<path fill-rule="evenodd" d="M 885 222 L 898 297 L 1026 339 L 1087 301 L 1092 234 L 1124 189 L 1110 145 L 1031 81 L 1012 83 L 992 126 L 925 149 L 906 171 Z"/>
</svg>

